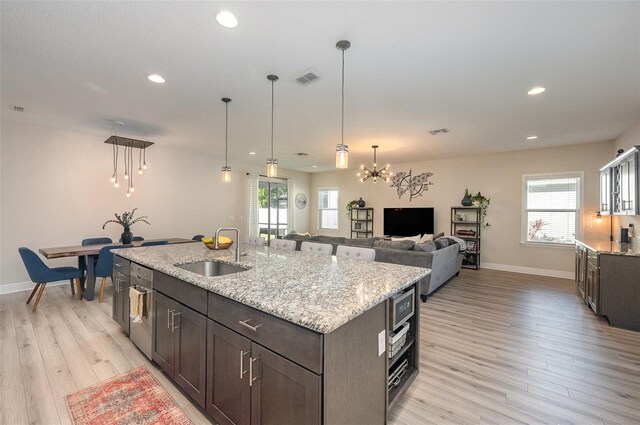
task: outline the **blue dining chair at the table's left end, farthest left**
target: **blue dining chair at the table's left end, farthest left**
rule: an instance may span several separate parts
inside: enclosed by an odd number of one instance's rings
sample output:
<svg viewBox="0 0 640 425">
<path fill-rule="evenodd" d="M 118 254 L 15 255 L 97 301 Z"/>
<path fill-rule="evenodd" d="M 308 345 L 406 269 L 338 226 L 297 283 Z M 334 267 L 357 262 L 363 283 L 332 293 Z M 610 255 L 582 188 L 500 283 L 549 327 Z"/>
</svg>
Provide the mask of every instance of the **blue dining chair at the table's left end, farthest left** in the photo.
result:
<svg viewBox="0 0 640 425">
<path fill-rule="evenodd" d="M 36 291 L 38 292 L 36 302 L 33 304 L 33 311 L 36 311 L 36 308 L 38 308 L 38 303 L 40 302 L 40 298 L 42 298 L 44 288 L 49 282 L 58 282 L 60 280 L 68 279 L 72 289 L 71 292 L 73 294 L 73 281 L 75 280 L 76 289 L 78 290 L 78 299 L 82 299 L 82 290 L 80 289 L 80 276 L 82 276 L 82 270 L 76 267 L 50 268 L 40 259 L 40 257 L 38 257 L 38 254 L 29 248 L 20 247 L 18 248 L 18 252 L 20 253 L 24 267 L 27 269 L 29 279 L 36 284 L 33 291 L 31 291 L 31 295 L 29 295 L 29 298 L 27 299 L 27 304 L 29 304 L 33 296 L 36 294 Z"/>
</svg>

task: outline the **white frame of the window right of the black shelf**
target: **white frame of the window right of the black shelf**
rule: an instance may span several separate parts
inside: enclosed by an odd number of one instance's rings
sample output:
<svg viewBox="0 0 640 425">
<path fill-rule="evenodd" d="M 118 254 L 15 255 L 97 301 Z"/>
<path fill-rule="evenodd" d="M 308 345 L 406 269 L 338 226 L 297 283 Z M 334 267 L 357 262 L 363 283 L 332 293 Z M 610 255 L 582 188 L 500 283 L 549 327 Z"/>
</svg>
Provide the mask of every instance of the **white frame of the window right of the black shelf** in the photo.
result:
<svg viewBox="0 0 640 425">
<path fill-rule="evenodd" d="M 527 182 L 530 180 L 543 180 L 543 179 L 562 179 L 562 178 L 577 178 L 578 188 L 576 190 L 576 209 L 528 209 L 527 208 Z M 583 171 L 564 171 L 557 173 L 539 173 L 539 174 L 523 174 L 522 175 L 522 211 L 521 211 L 521 229 L 520 229 L 520 244 L 525 246 L 538 246 L 546 248 L 570 248 L 574 249 L 575 243 L 560 243 L 560 242 L 534 242 L 527 240 L 529 232 L 529 215 L 530 211 L 538 212 L 575 212 L 575 240 L 580 239 L 582 234 L 582 211 L 584 209 L 584 172 Z"/>
</svg>

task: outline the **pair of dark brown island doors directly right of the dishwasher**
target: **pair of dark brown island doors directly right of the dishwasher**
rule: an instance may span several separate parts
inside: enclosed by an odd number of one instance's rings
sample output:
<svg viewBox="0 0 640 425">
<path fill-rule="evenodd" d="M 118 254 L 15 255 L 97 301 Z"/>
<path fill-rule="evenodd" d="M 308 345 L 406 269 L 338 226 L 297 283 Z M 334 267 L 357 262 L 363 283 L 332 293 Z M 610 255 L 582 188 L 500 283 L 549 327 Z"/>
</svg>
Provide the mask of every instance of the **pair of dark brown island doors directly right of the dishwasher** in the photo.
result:
<svg viewBox="0 0 640 425">
<path fill-rule="evenodd" d="M 160 292 L 153 299 L 153 360 L 204 407 L 207 319 Z"/>
</svg>

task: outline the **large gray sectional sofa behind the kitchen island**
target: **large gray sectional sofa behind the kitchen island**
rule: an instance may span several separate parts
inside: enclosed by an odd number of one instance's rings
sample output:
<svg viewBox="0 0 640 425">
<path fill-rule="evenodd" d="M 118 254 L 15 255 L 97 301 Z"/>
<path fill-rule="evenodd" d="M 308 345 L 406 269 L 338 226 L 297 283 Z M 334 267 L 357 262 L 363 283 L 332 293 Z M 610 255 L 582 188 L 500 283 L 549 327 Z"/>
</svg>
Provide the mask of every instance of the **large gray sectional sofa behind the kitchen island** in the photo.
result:
<svg viewBox="0 0 640 425">
<path fill-rule="evenodd" d="M 334 236 L 308 236 L 289 234 L 285 239 L 296 241 L 296 250 L 304 241 L 329 243 L 333 245 L 335 255 L 338 245 L 351 245 L 373 248 L 376 251 L 376 261 L 383 263 L 402 264 L 405 266 L 424 267 L 431 269 L 431 274 L 420 282 L 420 297 L 423 301 L 427 295 L 435 291 L 445 282 L 457 276 L 462 266 L 463 253 L 460 252 L 460 245 L 454 241 L 449 241 L 447 246 L 440 247 L 440 244 L 430 252 L 423 251 L 423 244 L 416 244 L 410 241 L 387 242 L 380 238 L 368 239 L 348 239 Z M 445 237 L 446 238 L 446 237 Z M 426 248 L 424 248 L 426 249 Z"/>
</svg>

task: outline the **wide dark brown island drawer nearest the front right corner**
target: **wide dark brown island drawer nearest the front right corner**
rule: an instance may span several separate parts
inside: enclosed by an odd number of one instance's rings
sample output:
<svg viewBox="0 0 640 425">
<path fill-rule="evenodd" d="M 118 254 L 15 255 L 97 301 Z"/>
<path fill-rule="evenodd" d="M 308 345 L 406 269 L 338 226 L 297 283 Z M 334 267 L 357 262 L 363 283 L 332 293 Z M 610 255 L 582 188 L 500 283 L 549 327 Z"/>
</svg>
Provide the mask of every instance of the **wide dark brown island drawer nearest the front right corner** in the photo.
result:
<svg viewBox="0 0 640 425">
<path fill-rule="evenodd" d="M 322 373 L 322 334 L 209 293 L 209 317 L 301 366 Z"/>
</svg>

